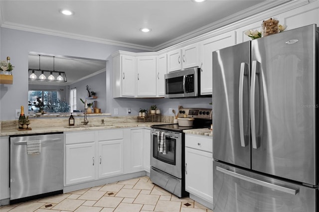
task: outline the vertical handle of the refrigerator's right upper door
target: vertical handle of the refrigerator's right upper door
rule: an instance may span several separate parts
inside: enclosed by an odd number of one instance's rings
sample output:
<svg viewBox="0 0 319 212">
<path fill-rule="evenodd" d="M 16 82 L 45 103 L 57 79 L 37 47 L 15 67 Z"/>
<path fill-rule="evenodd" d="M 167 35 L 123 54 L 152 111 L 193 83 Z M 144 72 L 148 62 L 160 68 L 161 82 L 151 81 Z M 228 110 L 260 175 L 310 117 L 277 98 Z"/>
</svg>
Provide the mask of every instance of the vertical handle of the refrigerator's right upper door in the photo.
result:
<svg viewBox="0 0 319 212">
<path fill-rule="evenodd" d="M 256 60 L 252 62 L 252 73 L 250 81 L 250 121 L 251 121 L 251 140 L 254 149 L 259 147 L 256 139 L 256 117 L 255 117 L 255 84 L 257 69 L 260 70 L 260 63 Z"/>
</svg>

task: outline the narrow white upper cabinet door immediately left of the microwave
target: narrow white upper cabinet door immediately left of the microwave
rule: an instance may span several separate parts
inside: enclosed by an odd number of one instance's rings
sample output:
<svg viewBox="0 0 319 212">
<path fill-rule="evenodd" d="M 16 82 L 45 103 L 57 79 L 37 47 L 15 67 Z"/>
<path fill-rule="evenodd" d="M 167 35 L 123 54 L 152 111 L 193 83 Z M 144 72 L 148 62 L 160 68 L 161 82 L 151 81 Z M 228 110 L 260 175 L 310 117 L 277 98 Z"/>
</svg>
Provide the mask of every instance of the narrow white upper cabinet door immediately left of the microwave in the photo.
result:
<svg viewBox="0 0 319 212">
<path fill-rule="evenodd" d="M 162 54 L 158 56 L 157 60 L 157 75 L 156 75 L 156 96 L 163 97 L 165 95 L 165 79 L 167 74 L 167 55 Z"/>
</svg>

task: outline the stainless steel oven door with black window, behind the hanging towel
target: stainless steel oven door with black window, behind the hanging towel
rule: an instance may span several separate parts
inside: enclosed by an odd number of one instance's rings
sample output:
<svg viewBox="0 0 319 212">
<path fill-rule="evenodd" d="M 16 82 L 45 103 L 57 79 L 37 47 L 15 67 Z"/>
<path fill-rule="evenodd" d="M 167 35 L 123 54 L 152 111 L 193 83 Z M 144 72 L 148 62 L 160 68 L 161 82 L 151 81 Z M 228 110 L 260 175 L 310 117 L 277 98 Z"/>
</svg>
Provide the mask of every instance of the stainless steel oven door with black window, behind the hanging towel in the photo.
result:
<svg viewBox="0 0 319 212">
<path fill-rule="evenodd" d="M 164 132 L 165 153 L 159 151 L 158 135 Z M 181 179 L 181 133 L 151 129 L 151 166 Z"/>
</svg>

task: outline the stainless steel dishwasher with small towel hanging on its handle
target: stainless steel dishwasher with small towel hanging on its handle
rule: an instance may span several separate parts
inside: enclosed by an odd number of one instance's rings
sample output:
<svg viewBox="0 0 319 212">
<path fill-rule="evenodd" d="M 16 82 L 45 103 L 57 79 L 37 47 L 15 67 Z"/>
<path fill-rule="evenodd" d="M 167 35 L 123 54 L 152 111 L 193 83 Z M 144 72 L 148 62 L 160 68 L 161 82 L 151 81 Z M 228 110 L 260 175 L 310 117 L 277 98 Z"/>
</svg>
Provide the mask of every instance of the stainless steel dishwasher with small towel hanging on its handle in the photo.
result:
<svg viewBox="0 0 319 212">
<path fill-rule="evenodd" d="M 63 193 L 63 133 L 10 137 L 10 204 Z"/>
</svg>

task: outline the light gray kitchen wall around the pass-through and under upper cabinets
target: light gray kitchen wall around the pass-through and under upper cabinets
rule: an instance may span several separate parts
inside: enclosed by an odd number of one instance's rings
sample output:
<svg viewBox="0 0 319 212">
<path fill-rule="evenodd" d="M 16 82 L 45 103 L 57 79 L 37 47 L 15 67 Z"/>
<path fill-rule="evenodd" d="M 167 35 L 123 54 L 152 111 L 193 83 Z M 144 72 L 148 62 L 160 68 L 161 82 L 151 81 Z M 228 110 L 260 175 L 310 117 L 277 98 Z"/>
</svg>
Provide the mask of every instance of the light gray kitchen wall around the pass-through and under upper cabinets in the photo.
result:
<svg viewBox="0 0 319 212">
<path fill-rule="evenodd" d="M 81 82 L 73 87 L 79 88 L 78 98 L 81 97 L 82 90 L 86 92 L 85 86 L 89 85 L 92 90 L 98 93 L 98 106 L 103 112 L 114 113 L 114 108 L 118 108 L 118 115 L 126 115 L 126 108 L 131 108 L 131 115 L 137 115 L 140 108 L 150 108 L 157 104 L 164 115 L 170 115 L 168 108 L 177 110 L 178 105 L 184 107 L 204 107 L 210 108 L 211 98 L 198 99 L 113 99 L 113 74 L 111 54 L 117 50 L 144 52 L 142 50 L 82 41 L 59 36 L 51 36 L 8 28 L 0 29 L 0 55 L 10 56 L 11 63 L 15 66 L 12 71 L 13 84 L 0 84 L 0 119 L 14 120 L 15 109 L 21 105 L 27 108 L 28 92 L 28 53 L 31 51 L 56 55 L 66 55 L 74 57 L 85 57 L 92 59 L 107 60 L 106 73 L 98 80 L 94 77 Z M 98 77 L 98 75 L 97 75 Z M 105 81 L 101 80 L 102 78 Z M 84 89 L 82 88 L 84 86 Z M 70 86 L 72 88 L 72 85 Z M 106 89 L 106 95 L 102 95 Z M 80 105 L 80 104 L 79 104 Z"/>
</svg>

